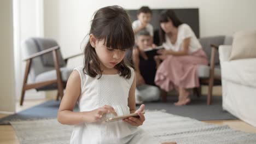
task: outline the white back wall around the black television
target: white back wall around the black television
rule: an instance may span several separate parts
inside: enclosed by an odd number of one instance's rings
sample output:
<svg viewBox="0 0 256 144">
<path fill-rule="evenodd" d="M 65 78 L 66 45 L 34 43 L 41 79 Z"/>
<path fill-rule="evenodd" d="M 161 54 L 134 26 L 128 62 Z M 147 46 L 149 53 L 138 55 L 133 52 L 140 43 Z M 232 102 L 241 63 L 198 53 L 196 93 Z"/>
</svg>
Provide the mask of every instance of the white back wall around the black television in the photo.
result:
<svg viewBox="0 0 256 144">
<path fill-rule="evenodd" d="M 130 0 L 130 1 L 44 1 L 44 34 L 56 39 L 64 57 L 82 51 L 81 41 L 88 33 L 92 14 L 107 5 L 120 5 L 125 9 L 138 9 L 148 5 L 158 8 L 199 8 L 200 35 L 232 35 L 241 29 L 256 29 L 255 0 Z M 75 66 L 82 61 L 74 61 Z"/>
</svg>

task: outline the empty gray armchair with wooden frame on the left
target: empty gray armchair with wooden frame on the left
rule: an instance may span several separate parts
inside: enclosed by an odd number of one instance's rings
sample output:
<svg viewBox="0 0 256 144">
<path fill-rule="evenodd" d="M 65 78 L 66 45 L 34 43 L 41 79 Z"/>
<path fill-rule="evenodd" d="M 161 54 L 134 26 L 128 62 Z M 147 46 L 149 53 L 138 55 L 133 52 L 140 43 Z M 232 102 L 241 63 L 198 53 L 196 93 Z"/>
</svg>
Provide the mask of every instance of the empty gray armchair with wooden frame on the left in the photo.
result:
<svg viewBox="0 0 256 144">
<path fill-rule="evenodd" d="M 37 91 L 57 89 L 56 100 L 63 97 L 63 89 L 73 69 L 67 68 L 69 58 L 63 59 L 60 47 L 53 39 L 30 38 L 22 44 L 26 61 L 20 105 L 23 104 L 25 91 L 35 88 Z M 28 79 L 29 76 L 29 79 Z"/>
</svg>

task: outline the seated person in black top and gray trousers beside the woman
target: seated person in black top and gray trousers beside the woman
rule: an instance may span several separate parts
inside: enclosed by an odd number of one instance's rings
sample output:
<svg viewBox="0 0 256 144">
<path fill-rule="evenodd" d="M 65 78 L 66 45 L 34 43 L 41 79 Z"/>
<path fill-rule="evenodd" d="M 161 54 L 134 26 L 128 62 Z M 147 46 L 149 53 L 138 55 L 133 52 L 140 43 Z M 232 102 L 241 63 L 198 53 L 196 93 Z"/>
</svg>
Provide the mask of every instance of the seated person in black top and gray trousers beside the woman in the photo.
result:
<svg viewBox="0 0 256 144">
<path fill-rule="evenodd" d="M 155 101 L 160 98 L 160 89 L 155 86 L 154 78 L 156 72 L 155 61 L 148 58 L 144 50 L 155 47 L 152 44 L 150 33 L 142 30 L 136 37 L 137 46 L 132 52 L 132 61 L 136 74 L 136 104 L 142 101 Z"/>
</svg>

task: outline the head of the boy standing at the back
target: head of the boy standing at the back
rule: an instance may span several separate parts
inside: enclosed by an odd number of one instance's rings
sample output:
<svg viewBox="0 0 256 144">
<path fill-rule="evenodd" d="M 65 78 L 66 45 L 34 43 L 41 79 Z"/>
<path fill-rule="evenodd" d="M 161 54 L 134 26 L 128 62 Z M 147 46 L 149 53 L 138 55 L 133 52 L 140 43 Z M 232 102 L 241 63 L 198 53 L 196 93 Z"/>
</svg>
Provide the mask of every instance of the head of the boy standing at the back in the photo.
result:
<svg viewBox="0 0 256 144">
<path fill-rule="evenodd" d="M 152 17 L 152 11 L 149 7 L 141 7 L 137 12 L 137 18 L 141 23 L 149 23 Z"/>
</svg>

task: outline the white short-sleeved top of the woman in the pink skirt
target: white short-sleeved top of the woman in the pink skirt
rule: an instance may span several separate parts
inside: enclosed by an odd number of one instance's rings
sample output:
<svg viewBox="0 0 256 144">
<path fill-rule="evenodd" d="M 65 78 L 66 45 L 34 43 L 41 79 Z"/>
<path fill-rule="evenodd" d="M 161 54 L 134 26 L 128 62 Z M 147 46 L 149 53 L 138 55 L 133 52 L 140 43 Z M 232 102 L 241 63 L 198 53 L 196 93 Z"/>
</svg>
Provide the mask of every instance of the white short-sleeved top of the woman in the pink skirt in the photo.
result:
<svg viewBox="0 0 256 144">
<path fill-rule="evenodd" d="M 167 50 L 179 51 L 182 49 L 183 40 L 186 38 L 190 38 L 189 53 L 193 53 L 199 49 L 202 49 L 199 40 L 195 36 L 195 33 L 186 23 L 178 26 L 178 34 L 175 44 L 172 44 L 168 35 L 165 34 L 166 41 L 162 44 L 162 46 L 164 46 Z"/>
</svg>

